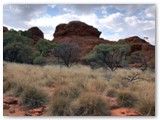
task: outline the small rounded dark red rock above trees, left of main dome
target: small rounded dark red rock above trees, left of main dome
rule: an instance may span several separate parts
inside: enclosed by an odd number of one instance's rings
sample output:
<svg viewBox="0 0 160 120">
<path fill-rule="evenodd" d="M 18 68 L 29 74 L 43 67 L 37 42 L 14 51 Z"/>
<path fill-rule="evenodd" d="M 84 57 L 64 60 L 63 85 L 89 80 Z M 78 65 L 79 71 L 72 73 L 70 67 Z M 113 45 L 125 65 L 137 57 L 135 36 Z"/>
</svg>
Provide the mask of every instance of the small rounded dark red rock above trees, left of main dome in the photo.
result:
<svg viewBox="0 0 160 120">
<path fill-rule="evenodd" d="M 37 42 L 39 39 L 43 39 L 43 32 L 38 27 L 32 27 L 28 29 L 29 32 L 32 33 L 32 39 Z"/>
</svg>

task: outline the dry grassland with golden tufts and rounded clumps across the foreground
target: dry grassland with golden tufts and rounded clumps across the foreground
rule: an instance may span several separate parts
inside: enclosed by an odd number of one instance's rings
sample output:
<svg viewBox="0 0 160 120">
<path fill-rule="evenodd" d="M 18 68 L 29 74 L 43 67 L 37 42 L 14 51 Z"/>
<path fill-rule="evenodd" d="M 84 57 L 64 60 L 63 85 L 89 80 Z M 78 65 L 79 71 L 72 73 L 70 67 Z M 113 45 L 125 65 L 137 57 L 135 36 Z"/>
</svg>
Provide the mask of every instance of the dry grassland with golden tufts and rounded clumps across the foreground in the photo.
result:
<svg viewBox="0 0 160 120">
<path fill-rule="evenodd" d="M 4 62 L 3 93 L 20 99 L 26 108 L 46 106 L 46 114 L 110 115 L 103 96 L 144 116 L 155 115 L 155 73 L 152 70 L 73 65 L 36 66 Z"/>
</svg>

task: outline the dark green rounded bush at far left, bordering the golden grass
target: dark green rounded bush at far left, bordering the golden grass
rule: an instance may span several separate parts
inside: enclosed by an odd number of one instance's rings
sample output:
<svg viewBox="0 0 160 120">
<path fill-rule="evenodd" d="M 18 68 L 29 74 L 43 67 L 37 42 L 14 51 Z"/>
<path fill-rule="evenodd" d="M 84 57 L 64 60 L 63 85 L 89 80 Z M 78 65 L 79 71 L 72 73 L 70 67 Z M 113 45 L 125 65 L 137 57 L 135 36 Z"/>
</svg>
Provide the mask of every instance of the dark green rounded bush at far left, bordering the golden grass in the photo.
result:
<svg viewBox="0 0 160 120">
<path fill-rule="evenodd" d="M 8 44 L 3 49 L 3 59 L 11 62 L 31 63 L 32 49 L 20 42 Z"/>
</svg>

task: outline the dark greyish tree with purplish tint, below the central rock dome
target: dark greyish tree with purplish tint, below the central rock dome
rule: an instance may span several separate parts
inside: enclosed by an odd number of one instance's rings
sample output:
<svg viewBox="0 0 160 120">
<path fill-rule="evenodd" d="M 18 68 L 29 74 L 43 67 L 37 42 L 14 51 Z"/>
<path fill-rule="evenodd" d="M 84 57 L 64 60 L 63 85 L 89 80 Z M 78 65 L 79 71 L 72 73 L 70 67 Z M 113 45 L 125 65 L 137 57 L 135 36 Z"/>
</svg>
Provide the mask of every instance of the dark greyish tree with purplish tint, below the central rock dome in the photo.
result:
<svg viewBox="0 0 160 120">
<path fill-rule="evenodd" d="M 76 43 L 59 43 L 54 47 L 54 56 L 70 67 L 79 57 L 79 46 Z"/>
</svg>

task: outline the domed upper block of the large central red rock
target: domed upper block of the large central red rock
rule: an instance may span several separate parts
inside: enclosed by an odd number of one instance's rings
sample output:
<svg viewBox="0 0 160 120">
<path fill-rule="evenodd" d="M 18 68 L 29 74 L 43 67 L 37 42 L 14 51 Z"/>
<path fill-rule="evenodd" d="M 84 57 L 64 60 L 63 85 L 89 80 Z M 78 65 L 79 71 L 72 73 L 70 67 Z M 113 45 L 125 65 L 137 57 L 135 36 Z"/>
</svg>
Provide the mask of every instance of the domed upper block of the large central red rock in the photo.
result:
<svg viewBox="0 0 160 120">
<path fill-rule="evenodd" d="M 72 21 L 68 24 L 60 24 L 56 27 L 54 37 L 66 36 L 92 36 L 99 38 L 101 32 L 93 26 L 87 25 L 80 21 Z"/>
</svg>

